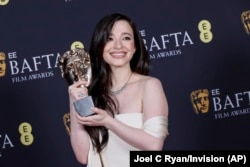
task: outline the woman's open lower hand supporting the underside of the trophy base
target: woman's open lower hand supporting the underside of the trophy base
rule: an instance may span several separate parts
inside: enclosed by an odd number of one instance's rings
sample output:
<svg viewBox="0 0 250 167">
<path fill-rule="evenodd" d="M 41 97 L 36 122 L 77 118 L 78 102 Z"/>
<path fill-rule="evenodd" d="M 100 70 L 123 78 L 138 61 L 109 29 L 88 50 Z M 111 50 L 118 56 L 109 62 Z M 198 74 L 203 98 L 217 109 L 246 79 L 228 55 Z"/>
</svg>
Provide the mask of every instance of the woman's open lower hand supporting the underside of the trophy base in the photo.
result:
<svg viewBox="0 0 250 167">
<path fill-rule="evenodd" d="M 80 116 L 77 113 L 76 117 L 78 123 L 86 126 L 106 126 L 108 120 L 112 118 L 105 110 L 102 110 L 100 108 L 93 107 L 91 108 L 91 110 L 95 114 L 87 117 Z"/>
</svg>

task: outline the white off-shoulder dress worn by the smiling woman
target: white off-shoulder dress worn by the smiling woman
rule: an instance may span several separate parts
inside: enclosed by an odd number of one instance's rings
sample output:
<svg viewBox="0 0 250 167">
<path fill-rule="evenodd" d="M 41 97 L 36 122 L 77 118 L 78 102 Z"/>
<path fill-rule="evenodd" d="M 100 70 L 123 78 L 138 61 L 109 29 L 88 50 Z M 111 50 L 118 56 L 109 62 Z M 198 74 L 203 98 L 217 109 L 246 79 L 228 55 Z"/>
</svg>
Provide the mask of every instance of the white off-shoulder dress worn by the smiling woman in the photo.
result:
<svg viewBox="0 0 250 167">
<path fill-rule="evenodd" d="M 152 129 L 152 126 L 154 126 L 152 121 L 157 121 L 156 124 L 159 124 L 159 118 L 154 119 L 155 117 L 149 119 L 149 126 L 147 124 L 143 124 L 143 115 L 142 113 L 126 113 L 126 114 L 118 114 L 115 115 L 115 119 L 123 122 L 124 124 L 144 129 L 146 132 L 157 135 L 156 137 L 163 137 L 167 135 L 167 120 L 166 118 L 162 119 L 160 121 L 163 121 L 161 123 L 161 127 L 159 126 L 157 128 Z M 148 121 L 146 121 L 148 122 Z M 151 123 L 150 123 L 151 122 Z M 166 128 L 164 128 L 166 127 Z M 152 130 L 150 130 L 150 128 Z M 159 136 L 160 134 L 160 136 Z M 139 137 L 139 136 L 138 136 Z M 90 142 L 91 144 L 91 142 Z M 129 145 L 128 143 L 124 142 L 121 138 L 119 138 L 116 134 L 114 134 L 112 131 L 109 130 L 109 141 L 104 150 L 101 153 L 101 158 L 104 164 L 104 167 L 129 167 L 129 154 L 130 151 L 136 151 L 137 148 Z M 100 155 L 95 152 L 93 149 L 93 146 L 91 144 L 91 148 L 89 151 L 88 156 L 88 167 L 102 167 Z"/>
</svg>

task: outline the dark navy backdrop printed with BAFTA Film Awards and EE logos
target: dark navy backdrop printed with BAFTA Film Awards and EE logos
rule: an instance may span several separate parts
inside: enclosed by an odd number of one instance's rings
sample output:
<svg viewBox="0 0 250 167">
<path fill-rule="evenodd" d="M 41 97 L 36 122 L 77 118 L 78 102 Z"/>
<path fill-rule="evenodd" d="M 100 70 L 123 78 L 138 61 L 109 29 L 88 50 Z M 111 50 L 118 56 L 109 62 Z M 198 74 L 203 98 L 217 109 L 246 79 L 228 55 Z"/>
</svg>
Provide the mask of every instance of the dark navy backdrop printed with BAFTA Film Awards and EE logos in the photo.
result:
<svg viewBox="0 0 250 167">
<path fill-rule="evenodd" d="M 0 166 L 81 166 L 57 57 L 112 12 L 136 22 L 164 86 L 164 150 L 250 150 L 249 0 L 1 0 Z"/>
</svg>

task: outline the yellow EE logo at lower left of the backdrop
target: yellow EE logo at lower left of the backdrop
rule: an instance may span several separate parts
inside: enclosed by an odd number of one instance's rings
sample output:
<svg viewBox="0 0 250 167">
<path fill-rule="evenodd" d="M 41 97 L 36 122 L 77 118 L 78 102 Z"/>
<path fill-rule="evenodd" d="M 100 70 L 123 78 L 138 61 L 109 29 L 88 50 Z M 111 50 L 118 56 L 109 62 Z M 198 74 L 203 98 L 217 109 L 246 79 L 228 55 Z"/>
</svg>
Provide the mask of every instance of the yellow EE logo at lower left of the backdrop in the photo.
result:
<svg viewBox="0 0 250 167">
<path fill-rule="evenodd" d="M 34 141 L 34 136 L 32 135 L 32 126 L 27 123 L 23 122 L 19 125 L 19 133 L 20 133 L 20 141 L 23 145 L 29 146 Z"/>
</svg>

